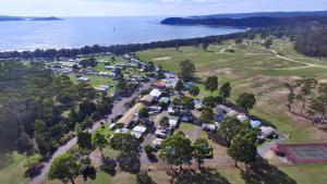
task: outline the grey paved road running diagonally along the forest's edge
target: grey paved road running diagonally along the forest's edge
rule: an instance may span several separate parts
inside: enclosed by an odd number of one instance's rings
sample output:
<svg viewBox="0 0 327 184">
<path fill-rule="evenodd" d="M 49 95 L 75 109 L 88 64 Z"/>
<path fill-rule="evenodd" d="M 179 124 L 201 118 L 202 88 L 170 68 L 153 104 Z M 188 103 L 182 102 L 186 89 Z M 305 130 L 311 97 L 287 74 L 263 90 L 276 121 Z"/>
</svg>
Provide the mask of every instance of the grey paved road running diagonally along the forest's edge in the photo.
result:
<svg viewBox="0 0 327 184">
<path fill-rule="evenodd" d="M 144 89 L 147 89 L 150 87 L 153 84 L 153 81 L 143 84 L 143 86 L 140 88 L 138 91 L 134 93 L 131 97 L 129 98 L 123 98 L 121 101 L 117 102 L 111 111 L 111 114 L 108 116 L 108 120 L 110 121 L 112 118 L 121 114 L 124 111 L 124 103 L 131 101 L 133 98 L 137 97 L 140 93 Z M 104 121 L 104 120 L 101 120 Z M 94 132 L 101 125 L 101 121 L 96 122 L 89 132 Z M 55 158 L 58 157 L 59 155 L 65 154 L 72 146 L 74 146 L 77 143 L 77 137 L 72 138 L 70 142 L 68 142 L 65 145 L 60 146 L 57 151 L 53 154 L 52 158 L 48 161 L 45 162 L 45 168 L 41 170 L 40 174 L 37 175 L 36 177 L 33 177 L 28 184 L 41 184 L 44 181 L 46 181 L 48 172 L 50 170 L 50 165 L 53 162 Z"/>
</svg>

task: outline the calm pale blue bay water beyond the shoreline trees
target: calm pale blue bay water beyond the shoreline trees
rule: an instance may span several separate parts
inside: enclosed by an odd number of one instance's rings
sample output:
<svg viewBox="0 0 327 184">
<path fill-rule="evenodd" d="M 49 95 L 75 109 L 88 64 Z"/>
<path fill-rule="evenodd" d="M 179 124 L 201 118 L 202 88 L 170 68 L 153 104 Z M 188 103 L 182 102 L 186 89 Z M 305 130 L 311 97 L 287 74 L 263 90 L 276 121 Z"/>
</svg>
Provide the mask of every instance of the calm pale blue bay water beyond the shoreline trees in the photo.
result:
<svg viewBox="0 0 327 184">
<path fill-rule="evenodd" d="M 52 22 L 0 22 L 0 50 L 76 48 L 223 35 L 243 29 L 160 25 L 164 17 L 66 17 Z"/>
</svg>

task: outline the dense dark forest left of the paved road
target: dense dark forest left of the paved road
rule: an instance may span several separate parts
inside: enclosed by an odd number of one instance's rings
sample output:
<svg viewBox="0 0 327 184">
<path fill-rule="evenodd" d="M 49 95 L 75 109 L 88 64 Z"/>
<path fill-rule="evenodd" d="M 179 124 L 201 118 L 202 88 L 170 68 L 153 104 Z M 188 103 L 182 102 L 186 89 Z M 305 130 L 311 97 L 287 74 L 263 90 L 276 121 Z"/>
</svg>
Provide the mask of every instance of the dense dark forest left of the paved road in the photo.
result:
<svg viewBox="0 0 327 184">
<path fill-rule="evenodd" d="M 78 123 L 92 126 L 111 109 L 111 99 L 88 84 L 74 85 L 41 62 L 0 64 L 0 149 L 49 156 Z M 65 136 L 64 136 L 65 135 Z"/>
</svg>

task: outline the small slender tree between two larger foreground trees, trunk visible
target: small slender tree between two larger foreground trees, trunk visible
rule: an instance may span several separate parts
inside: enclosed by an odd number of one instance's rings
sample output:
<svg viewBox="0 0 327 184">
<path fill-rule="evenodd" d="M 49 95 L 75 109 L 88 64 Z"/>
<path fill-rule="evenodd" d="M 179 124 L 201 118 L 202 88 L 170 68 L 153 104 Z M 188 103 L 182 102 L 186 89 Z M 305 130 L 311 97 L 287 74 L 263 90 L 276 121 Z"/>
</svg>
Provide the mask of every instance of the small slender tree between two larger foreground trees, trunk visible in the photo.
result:
<svg viewBox="0 0 327 184">
<path fill-rule="evenodd" d="M 201 169 L 201 164 L 204 162 L 204 159 L 207 158 L 210 154 L 213 154 L 213 147 L 205 138 L 197 138 L 193 143 L 192 147 L 193 147 L 194 158 L 197 161 L 198 169 Z"/>
</svg>

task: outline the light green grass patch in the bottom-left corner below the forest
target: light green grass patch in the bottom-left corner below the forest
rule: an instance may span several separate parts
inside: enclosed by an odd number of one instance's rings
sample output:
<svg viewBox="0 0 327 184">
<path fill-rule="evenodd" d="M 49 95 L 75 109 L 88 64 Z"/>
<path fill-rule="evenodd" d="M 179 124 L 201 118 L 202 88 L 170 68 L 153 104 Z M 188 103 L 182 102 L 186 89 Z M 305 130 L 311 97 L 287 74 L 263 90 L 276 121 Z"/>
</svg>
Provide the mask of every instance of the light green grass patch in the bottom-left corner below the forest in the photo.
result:
<svg viewBox="0 0 327 184">
<path fill-rule="evenodd" d="M 17 152 L 0 155 L 0 183 L 23 184 L 27 179 L 24 177 L 24 163 L 26 157 Z"/>
</svg>

